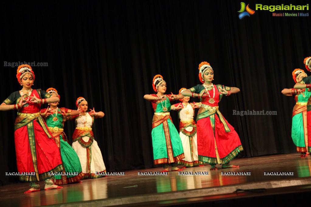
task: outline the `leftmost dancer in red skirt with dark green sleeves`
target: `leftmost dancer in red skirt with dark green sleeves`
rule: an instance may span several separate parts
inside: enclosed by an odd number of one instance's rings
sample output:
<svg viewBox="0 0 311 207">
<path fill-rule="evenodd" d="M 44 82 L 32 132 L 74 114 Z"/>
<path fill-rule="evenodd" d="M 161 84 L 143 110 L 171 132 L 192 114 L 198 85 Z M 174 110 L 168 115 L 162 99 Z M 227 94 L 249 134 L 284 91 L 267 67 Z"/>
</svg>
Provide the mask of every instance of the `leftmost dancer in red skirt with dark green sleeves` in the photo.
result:
<svg viewBox="0 0 311 207">
<path fill-rule="evenodd" d="M 31 88 L 35 74 L 30 65 L 18 66 L 16 78 L 22 89 L 3 101 L 0 110 L 18 111 L 14 140 L 17 170 L 21 174 L 19 179 L 30 182 L 31 188 L 25 193 L 40 191 L 36 184 L 39 180 L 45 180 L 44 190 L 63 188 L 54 185 L 51 179 L 51 174 L 63 170 L 63 167 L 58 147 L 40 113 L 41 104 L 59 99 L 41 89 Z"/>
</svg>

